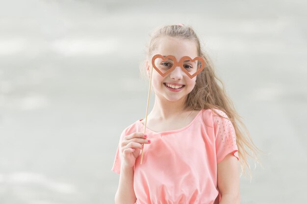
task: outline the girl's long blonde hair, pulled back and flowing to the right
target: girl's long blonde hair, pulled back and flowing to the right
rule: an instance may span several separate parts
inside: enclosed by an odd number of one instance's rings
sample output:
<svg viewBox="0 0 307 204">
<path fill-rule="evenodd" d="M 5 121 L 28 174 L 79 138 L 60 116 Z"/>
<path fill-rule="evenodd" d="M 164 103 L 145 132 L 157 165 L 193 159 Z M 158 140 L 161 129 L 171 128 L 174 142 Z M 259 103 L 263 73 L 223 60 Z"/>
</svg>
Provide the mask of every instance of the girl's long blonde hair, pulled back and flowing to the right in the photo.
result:
<svg viewBox="0 0 307 204">
<path fill-rule="evenodd" d="M 253 158 L 258 163 L 258 152 L 261 152 L 254 144 L 249 131 L 241 120 L 241 116 L 234 109 L 233 103 L 227 96 L 223 82 L 216 76 L 212 62 L 207 54 L 202 50 L 200 40 L 194 32 L 193 28 L 188 25 L 165 25 L 153 31 L 149 45 L 146 49 L 147 60 L 151 59 L 153 51 L 156 48 L 157 40 L 162 36 L 176 37 L 195 42 L 199 56 L 205 59 L 205 68 L 197 75 L 196 85 L 194 89 L 187 95 L 185 102 L 185 110 L 203 110 L 214 109 L 225 112 L 231 121 L 235 133 L 236 143 L 238 146 L 239 161 L 242 173 L 246 174 L 245 169 L 249 171 L 251 176 L 251 168 L 247 159 Z M 151 60 L 149 60 L 151 62 Z M 141 73 L 144 74 L 145 61 L 140 65 Z M 217 82 L 222 86 L 219 86 Z M 223 117 L 222 115 L 220 115 Z M 224 117 L 225 118 L 225 117 Z"/>
</svg>

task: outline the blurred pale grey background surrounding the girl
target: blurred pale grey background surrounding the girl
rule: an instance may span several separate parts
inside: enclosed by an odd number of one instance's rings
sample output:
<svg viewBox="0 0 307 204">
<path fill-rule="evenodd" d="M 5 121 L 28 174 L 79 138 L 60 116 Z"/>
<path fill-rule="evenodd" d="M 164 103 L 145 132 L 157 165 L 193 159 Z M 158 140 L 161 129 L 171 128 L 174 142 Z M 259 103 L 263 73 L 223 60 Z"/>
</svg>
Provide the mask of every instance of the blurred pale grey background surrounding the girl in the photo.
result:
<svg viewBox="0 0 307 204">
<path fill-rule="evenodd" d="M 0 203 L 114 203 L 119 136 L 145 117 L 145 45 L 174 23 L 195 28 L 265 152 L 242 204 L 304 202 L 306 22 L 305 0 L 1 0 Z"/>
</svg>

